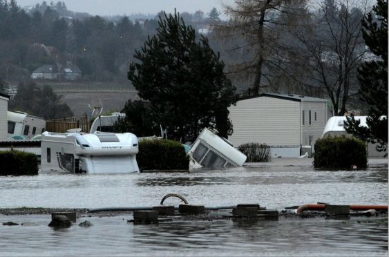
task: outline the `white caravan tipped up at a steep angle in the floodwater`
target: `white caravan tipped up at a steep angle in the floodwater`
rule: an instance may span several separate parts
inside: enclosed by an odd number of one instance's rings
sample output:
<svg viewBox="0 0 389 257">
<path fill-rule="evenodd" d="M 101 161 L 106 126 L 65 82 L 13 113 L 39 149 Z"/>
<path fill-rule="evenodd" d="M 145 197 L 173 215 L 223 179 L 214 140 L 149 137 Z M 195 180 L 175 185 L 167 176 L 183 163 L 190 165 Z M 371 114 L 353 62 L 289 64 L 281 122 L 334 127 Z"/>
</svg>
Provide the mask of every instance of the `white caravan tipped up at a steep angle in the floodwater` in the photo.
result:
<svg viewBox="0 0 389 257">
<path fill-rule="evenodd" d="M 222 168 L 242 166 L 245 163 L 246 155 L 235 149 L 228 140 L 216 135 L 217 133 L 214 129 L 202 129 L 188 152 L 191 168 Z"/>
</svg>

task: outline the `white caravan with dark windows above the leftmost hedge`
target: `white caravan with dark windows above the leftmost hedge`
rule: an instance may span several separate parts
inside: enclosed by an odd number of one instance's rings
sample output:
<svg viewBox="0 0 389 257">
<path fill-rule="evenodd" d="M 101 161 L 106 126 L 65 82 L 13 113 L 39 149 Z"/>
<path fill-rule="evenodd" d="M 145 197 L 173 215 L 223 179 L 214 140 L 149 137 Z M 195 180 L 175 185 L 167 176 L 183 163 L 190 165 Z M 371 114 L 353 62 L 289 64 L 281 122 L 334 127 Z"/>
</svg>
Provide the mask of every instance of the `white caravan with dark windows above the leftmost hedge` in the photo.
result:
<svg viewBox="0 0 389 257">
<path fill-rule="evenodd" d="M 23 135 L 30 140 L 35 135 L 43 133 L 46 129 L 46 122 L 43 118 L 28 115 L 19 111 L 8 111 L 8 135 Z"/>
</svg>

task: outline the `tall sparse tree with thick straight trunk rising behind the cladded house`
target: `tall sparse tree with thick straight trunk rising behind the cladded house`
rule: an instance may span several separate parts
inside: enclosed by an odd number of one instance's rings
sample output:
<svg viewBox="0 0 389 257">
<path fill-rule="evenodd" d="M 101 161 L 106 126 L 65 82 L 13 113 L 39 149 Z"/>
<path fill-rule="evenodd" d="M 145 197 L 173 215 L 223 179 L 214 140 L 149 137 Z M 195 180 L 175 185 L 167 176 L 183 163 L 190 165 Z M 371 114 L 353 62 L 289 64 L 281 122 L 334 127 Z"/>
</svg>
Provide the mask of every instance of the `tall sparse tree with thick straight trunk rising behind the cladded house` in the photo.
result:
<svg viewBox="0 0 389 257">
<path fill-rule="evenodd" d="M 276 91 L 272 75 L 285 60 L 281 54 L 284 46 L 280 44 L 285 34 L 278 28 L 292 24 L 284 23 L 280 17 L 290 8 L 296 10 L 301 6 L 305 6 L 304 0 L 236 0 L 234 6 L 224 5 L 225 14 L 231 19 L 217 26 L 218 35 L 229 42 L 235 40 L 231 53 L 238 60 L 229 67 L 229 74 L 252 81 L 254 95 L 266 87 Z"/>
</svg>

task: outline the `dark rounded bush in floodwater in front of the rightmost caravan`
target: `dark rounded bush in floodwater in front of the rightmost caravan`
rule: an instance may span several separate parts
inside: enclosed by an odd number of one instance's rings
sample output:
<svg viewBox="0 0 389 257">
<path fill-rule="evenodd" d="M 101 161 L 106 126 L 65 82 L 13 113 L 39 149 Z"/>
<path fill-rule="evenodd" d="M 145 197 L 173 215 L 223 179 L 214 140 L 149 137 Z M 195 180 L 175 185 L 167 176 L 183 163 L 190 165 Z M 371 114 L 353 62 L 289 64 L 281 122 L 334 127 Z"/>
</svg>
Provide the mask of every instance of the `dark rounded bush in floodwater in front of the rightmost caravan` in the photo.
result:
<svg viewBox="0 0 389 257">
<path fill-rule="evenodd" d="M 314 167 L 326 169 L 366 168 L 366 145 L 356 137 L 325 137 L 314 145 Z"/>
</svg>

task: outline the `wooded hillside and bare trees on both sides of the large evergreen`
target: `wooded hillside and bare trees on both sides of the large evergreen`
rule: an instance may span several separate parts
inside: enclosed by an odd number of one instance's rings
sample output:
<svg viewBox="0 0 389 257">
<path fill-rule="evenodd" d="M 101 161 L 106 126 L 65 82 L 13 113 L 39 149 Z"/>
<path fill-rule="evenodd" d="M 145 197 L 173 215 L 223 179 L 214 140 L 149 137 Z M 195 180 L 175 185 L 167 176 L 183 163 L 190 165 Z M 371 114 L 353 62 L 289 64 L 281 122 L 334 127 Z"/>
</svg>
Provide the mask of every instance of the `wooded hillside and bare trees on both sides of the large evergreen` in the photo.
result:
<svg viewBox="0 0 389 257">
<path fill-rule="evenodd" d="M 216 8 L 180 17 L 209 38 L 238 93 L 251 88 L 324 97 L 339 115 L 365 108 L 357 68 L 372 57 L 360 32 L 370 6 L 341 0 L 320 0 L 314 8 L 307 0 L 235 2 L 238 7 L 223 7 L 228 21 L 220 20 Z M 23 10 L 16 0 L 0 0 L 0 79 L 18 83 L 45 64 L 71 63 L 86 82 L 130 85 L 135 50 L 155 35 L 161 13 L 99 17 L 67 10 L 63 2 Z"/>
</svg>

